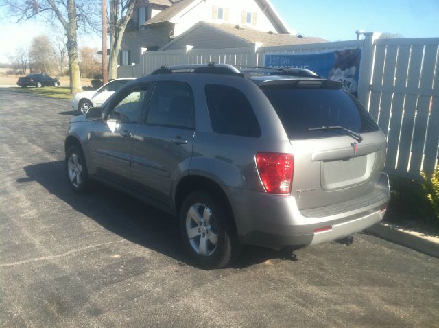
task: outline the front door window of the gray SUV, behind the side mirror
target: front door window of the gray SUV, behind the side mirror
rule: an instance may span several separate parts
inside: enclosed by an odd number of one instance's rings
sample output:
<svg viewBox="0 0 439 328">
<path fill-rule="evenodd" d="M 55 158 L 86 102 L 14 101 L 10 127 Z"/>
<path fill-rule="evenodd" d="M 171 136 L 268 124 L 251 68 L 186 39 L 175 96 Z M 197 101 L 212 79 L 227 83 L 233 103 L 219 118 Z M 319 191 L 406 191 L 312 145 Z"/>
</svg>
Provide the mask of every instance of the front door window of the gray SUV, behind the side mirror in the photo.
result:
<svg viewBox="0 0 439 328">
<path fill-rule="evenodd" d="M 124 122 L 138 122 L 145 108 L 147 86 L 132 89 L 110 111 L 108 119 Z"/>
</svg>

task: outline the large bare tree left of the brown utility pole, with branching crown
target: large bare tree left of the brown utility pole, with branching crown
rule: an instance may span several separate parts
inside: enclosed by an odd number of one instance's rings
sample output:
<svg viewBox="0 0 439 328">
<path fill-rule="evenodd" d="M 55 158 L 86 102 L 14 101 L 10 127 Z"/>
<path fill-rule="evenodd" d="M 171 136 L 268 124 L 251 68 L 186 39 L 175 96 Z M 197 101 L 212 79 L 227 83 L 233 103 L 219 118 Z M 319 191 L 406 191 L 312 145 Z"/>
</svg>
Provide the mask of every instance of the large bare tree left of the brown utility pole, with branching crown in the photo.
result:
<svg viewBox="0 0 439 328">
<path fill-rule="evenodd" d="M 3 0 L 10 9 L 10 14 L 16 17 L 14 23 L 36 16 L 47 21 L 58 19 L 67 38 L 66 47 L 69 57 L 69 77 L 71 93 L 82 91 L 80 67 L 78 58 L 78 26 L 93 26 L 91 19 L 95 16 L 95 0 Z M 92 10 L 90 10 L 92 9 Z"/>
</svg>

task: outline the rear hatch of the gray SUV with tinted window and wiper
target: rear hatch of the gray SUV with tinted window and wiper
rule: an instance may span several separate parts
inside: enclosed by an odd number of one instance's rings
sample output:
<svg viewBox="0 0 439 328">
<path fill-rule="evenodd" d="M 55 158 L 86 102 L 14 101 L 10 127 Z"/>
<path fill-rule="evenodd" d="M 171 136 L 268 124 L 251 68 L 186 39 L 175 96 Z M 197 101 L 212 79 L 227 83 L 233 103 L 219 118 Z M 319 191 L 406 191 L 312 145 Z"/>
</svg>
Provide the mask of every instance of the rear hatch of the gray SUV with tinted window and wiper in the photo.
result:
<svg viewBox="0 0 439 328">
<path fill-rule="evenodd" d="M 259 86 L 292 144 L 292 195 L 302 214 L 341 213 L 385 197 L 377 189 L 385 137 L 339 82 L 272 80 Z"/>
</svg>

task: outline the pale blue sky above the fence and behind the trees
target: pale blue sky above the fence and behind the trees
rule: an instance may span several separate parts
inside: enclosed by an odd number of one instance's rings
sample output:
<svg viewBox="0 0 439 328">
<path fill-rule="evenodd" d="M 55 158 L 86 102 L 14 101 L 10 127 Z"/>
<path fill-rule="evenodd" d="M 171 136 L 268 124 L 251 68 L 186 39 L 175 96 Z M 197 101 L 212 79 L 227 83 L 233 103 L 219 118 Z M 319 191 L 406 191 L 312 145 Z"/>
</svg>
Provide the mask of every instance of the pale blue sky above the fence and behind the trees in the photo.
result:
<svg viewBox="0 0 439 328">
<path fill-rule="evenodd" d="M 355 40 L 356 30 L 390 32 L 403 38 L 439 38 L 439 0 L 271 0 L 289 29 L 303 36 L 329 41 Z M 0 8 L 0 62 L 8 52 L 29 45 L 34 36 L 56 33 L 36 21 L 10 23 Z M 99 37 L 91 32 L 80 36 L 80 45 L 100 48 Z"/>
</svg>

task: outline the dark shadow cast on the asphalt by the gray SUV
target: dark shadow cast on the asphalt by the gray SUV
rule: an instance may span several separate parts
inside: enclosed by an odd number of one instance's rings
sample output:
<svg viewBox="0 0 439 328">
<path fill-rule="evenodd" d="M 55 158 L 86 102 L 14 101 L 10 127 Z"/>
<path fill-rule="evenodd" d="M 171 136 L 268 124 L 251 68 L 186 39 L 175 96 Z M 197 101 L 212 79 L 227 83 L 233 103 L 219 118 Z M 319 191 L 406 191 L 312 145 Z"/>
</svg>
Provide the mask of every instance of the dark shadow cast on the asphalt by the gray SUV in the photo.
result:
<svg viewBox="0 0 439 328">
<path fill-rule="evenodd" d="M 75 211 L 95 220 L 108 231 L 192 265 L 185 255 L 178 222 L 171 215 L 99 183 L 85 194 L 75 193 L 64 174 L 64 161 L 29 165 L 23 169 L 27 177 L 18 179 L 17 183 L 36 181 L 50 194 L 60 198 Z M 244 246 L 232 268 L 246 268 L 272 259 L 296 261 L 296 256 L 291 250 L 277 252 L 257 246 Z"/>
</svg>

